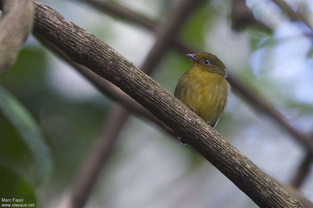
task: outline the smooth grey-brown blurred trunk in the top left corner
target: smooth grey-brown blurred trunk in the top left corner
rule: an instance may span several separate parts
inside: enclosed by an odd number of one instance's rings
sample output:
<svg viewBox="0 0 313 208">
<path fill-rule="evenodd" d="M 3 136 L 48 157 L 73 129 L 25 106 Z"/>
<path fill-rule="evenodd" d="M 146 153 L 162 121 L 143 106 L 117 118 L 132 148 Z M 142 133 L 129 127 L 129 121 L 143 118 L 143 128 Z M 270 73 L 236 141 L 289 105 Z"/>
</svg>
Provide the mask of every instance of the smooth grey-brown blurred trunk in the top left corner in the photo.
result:
<svg viewBox="0 0 313 208">
<path fill-rule="evenodd" d="M 0 74 L 7 70 L 18 56 L 18 51 L 33 29 L 33 0 L 3 0 L 0 22 Z"/>
</svg>

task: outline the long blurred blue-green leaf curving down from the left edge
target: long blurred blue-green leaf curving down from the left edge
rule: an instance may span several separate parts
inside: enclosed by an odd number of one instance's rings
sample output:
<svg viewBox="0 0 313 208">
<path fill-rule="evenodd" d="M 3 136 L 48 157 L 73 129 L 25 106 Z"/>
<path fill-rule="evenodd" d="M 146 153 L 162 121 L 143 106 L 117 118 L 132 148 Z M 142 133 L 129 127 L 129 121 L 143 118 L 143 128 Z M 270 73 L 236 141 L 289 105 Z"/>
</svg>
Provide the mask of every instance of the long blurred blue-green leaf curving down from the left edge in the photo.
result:
<svg viewBox="0 0 313 208">
<path fill-rule="evenodd" d="M 15 126 L 33 154 L 38 180 L 41 181 L 50 172 L 52 161 L 49 147 L 45 143 L 36 121 L 23 104 L 2 86 L 0 86 L 0 111 Z"/>
</svg>

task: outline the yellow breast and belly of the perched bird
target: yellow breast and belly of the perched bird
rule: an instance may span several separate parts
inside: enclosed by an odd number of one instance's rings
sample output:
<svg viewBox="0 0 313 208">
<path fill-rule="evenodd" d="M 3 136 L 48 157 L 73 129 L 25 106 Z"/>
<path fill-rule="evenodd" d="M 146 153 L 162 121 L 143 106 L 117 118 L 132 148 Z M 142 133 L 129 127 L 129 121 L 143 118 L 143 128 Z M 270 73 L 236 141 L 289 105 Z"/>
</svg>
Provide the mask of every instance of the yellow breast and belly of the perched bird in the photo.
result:
<svg viewBox="0 0 313 208">
<path fill-rule="evenodd" d="M 179 78 L 174 95 L 214 126 L 226 108 L 229 90 L 230 85 L 223 76 L 190 68 Z"/>
</svg>

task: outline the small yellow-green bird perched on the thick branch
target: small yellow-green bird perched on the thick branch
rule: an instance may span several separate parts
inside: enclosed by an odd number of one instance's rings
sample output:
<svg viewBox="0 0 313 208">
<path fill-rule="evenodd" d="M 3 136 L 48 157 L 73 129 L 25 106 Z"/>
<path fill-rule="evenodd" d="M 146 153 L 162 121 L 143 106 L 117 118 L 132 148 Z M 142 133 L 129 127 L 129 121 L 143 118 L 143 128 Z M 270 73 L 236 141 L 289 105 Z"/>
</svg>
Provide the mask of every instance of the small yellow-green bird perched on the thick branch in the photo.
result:
<svg viewBox="0 0 313 208">
<path fill-rule="evenodd" d="M 192 59 L 192 64 L 180 76 L 174 95 L 214 128 L 227 105 L 230 91 L 225 79 L 227 68 L 212 53 L 186 56 Z"/>
</svg>

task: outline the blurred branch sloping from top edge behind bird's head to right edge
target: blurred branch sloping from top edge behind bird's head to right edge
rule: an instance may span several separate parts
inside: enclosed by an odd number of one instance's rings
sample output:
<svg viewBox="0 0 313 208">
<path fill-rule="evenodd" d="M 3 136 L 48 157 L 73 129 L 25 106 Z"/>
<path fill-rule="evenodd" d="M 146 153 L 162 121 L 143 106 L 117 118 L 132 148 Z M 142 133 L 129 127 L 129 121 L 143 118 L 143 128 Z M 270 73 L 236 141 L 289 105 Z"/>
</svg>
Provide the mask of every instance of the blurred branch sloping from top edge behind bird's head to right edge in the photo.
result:
<svg viewBox="0 0 313 208">
<path fill-rule="evenodd" d="M 111 3 L 110 1 L 100 1 L 100 0 L 84 0 L 84 1 L 95 4 L 96 6 L 95 8 L 97 9 L 104 10 L 119 17 L 123 17 L 126 20 L 140 24 L 150 30 L 155 31 L 155 29 L 153 29 L 151 25 L 155 25 L 154 28 L 158 26 L 158 24 L 156 24 L 156 21 L 148 17 L 144 17 L 144 20 L 142 20 L 141 14 L 131 11 L 130 9 L 127 9 L 118 3 Z M 149 25 L 149 27 L 147 27 L 146 25 Z M 199 52 L 199 50 L 182 43 L 181 41 L 178 40 L 178 38 L 172 41 L 172 46 L 181 51 L 183 54 Z M 249 87 L 245 86 L 231 73 L 228 73 L 227 80 L 232 86 L 232 89 L 234 89 L 235 92 L 239 94 L 239 96 L 241 96 L 251 107 L 255 108 L 257 111 L 263 112 L 264 114 L 272 118 L 274 121 L 276 121 L 278 124 L 280 124 L 280 126 L 283 129 L 290 133 L 293 136 L 293 138 L 295 138 L 297 141 L 300 141 L 303 144 L 303 146 L 305 148 L 308 148 L 309 151 L 313 154 L 313 141 L 310 140 L 310 137 L 301 133 L 293 126 L 291 126 L 288 119 L 285 118 L 285 116 L 282 115 L 272 104 L 258 96 L 255 92 L 251 91 Z"/>
</svg>

